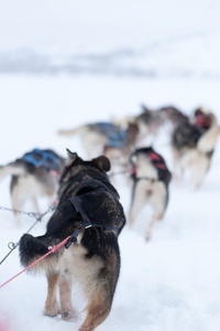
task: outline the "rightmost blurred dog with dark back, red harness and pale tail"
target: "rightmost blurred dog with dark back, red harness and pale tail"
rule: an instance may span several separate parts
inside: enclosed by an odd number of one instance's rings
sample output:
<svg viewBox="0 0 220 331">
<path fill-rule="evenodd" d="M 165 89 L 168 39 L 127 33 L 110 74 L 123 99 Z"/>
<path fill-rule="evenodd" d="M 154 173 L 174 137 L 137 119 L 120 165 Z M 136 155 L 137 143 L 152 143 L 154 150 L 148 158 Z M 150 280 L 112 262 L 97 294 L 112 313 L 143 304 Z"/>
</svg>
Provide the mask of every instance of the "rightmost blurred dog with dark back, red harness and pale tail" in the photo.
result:
<svg viewBox="0 0 220 331">
<path fill-rule="evenodd" d="M 175 177 L 183 179 L 189 170 L 193 186 L 198 188 L 210 167 L 219 135 L 216 116 L 205 108 L 196 109 L 190 120 L 178 126 L 172 137 Z"/>
</svg>

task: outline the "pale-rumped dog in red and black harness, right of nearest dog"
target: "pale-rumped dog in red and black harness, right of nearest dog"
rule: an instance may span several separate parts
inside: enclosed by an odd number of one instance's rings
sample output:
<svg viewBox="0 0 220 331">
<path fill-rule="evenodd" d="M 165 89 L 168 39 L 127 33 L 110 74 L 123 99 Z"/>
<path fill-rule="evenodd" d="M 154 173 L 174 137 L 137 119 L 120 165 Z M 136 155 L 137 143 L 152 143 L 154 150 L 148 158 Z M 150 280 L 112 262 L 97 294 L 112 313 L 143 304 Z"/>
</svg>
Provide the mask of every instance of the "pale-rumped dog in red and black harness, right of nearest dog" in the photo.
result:
<svg viewBox="0 0 220 331">
<path fill-rule="evenodd" d="M 168 184 L 172 174 L 162 156 L 151 147 L 136 149 L 131 156 L 132 164 L 132 201 L 129 212 L 129 224 L 133 225 L 144 205 L 151 205 L 153 216 L 145 238 L 150 239 L 156 221 L 161 221 L 168 203 Z"/>
</svg>

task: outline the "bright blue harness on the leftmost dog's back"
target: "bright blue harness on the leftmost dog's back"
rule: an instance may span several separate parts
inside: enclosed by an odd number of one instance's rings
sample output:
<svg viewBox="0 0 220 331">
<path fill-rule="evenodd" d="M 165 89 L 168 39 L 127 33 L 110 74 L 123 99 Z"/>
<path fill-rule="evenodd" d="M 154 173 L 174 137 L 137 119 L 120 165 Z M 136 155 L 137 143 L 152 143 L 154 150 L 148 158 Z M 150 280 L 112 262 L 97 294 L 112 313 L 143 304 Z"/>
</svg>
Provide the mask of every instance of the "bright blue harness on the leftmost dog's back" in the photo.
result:
<svg viewBox="0 0 220 331">
<path fill-rule="evenodd" d="M 41 156 L 41 159 L 37 160 L 35 157 Z M 56 157 L 47 151 L 35 148 L 33 151 L 26 153 L 22 158 L 23 160 L 32 163 L 35 167 L 44 167 L 47 170 L 54 170 L 56 167 Z M 50 162 L 51 161 L 51 162 Z M 50 164 L 51 163 L 51 164 Z M 50 164 L 50 166 L 48 166 Z"/>
</svg>

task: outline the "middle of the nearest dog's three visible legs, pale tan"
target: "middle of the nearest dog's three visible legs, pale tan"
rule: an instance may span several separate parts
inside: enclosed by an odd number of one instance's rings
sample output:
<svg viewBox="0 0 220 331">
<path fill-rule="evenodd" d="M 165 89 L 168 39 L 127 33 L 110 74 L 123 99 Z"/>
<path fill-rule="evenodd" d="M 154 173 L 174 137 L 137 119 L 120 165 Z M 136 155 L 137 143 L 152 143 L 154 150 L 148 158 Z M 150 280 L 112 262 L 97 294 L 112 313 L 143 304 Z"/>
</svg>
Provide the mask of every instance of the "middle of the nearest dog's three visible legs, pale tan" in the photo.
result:
<svg viewBox="0 0 220 331">
<path fill-rule="evenodd" d="M 66 274 L 68 270 L 65 271 Z M 76 319 L 76 310 L 72 303 L 72 279 L 68 275 L 59 278 L 61 313 L 65 321 Z"/>
</svg>

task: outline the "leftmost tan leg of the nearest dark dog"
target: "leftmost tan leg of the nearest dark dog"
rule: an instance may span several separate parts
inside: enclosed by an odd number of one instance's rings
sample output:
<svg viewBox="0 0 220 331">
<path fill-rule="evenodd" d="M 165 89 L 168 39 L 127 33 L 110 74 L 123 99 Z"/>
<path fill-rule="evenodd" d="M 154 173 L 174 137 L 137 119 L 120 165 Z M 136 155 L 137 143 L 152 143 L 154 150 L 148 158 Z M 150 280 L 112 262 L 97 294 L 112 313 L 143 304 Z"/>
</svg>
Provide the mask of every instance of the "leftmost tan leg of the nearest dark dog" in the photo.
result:
<svg viewBox="0 0 220 331">
<path fill-rule="evenodd" d="M 59 274 L 47 274 L 47 298 L 45 302 L 44 314 L 54 317 L 59 313 L 58 302 L 56 299 L 56 289 L 58 284 Z"/>
</svg>

